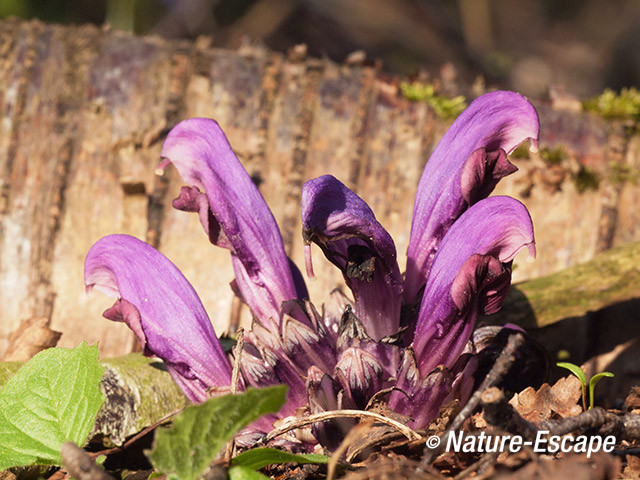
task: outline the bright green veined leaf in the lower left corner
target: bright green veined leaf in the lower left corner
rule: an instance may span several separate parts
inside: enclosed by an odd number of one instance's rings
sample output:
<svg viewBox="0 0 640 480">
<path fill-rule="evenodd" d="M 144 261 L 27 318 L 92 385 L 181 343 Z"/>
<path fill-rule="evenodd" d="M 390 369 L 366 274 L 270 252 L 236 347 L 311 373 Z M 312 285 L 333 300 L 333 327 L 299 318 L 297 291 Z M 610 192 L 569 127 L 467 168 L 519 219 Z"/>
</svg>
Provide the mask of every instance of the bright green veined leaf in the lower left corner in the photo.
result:
<svg viewBox="0 0 640 480">
<path fill-rule="evenodd" d="M 0 470 L 60 465 L 60 445 L 84 442 L 104 402 L 98 347 L 43 350 L 0 390 Z"/>
</svg>

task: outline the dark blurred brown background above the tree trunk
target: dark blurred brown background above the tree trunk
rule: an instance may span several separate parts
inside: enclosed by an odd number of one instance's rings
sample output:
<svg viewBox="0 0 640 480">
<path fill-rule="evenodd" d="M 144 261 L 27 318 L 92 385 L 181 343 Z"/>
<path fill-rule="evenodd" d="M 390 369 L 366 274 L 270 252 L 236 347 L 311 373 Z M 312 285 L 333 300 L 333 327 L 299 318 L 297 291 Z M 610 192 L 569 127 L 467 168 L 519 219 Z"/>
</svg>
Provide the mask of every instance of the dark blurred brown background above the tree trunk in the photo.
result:
<svg viewBox="0 0 640 480">
<path fill-rule="evenodd" d="M 362 50 L 389 73 L 453 66 L 463 83 L 538 98 L 640 84 L 638 0 L 0 0 L 0 17 L 12 15 L 225 48 L 304 43 L 337 62 Z"/>
</svg>

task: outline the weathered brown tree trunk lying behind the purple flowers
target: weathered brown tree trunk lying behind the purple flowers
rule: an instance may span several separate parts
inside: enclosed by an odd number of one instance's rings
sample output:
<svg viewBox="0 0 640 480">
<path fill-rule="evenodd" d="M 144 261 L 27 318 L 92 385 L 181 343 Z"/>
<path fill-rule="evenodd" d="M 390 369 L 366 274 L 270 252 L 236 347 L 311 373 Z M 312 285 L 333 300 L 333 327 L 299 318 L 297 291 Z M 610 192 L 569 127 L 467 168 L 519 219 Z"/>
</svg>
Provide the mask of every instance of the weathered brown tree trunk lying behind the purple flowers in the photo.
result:
<svg viewBox="0 0 640 480">
<path fill-rule="evenodd" d="M 99 340 L 103 355 L 129 352 L 131 334 L 100 318 L 110 301 L 86 296 L 82 276 L 91 245 L 116 232 L 159 247 L 194 284 L 217 332 L 228 326 L 228 252 L 209 245 L 196 215 L 171 208 L 182 185 L 176 172 L 154 176 L 165 134 L 188 117 L 222 125 L 298 265 L 302 184 L 331 173 L 371 205 L 404 268 L 416 186 L 450 120 L 409 102 L 401 79 L 376 67 L 300 51 L 224 51 L 88 26 L 0 22 L 3 335 L 44 317 L 63 346 Z M 620 122 L 534 103 L 541 148 L 561 147 L 566 158 L 517 160 L 521 171 L 498 189 L 520 198 L 536 227 L 538 259 L 518 261 L 516 280 L 640 240 L 639 137 Z M 599 186 L 583 191 L 585 175 Z M 319 305 L 343 282 L 313 254 L 319 280 L 310 293 Z M 0 354 L 6 344 L 0 339 Z"/>
</svg>

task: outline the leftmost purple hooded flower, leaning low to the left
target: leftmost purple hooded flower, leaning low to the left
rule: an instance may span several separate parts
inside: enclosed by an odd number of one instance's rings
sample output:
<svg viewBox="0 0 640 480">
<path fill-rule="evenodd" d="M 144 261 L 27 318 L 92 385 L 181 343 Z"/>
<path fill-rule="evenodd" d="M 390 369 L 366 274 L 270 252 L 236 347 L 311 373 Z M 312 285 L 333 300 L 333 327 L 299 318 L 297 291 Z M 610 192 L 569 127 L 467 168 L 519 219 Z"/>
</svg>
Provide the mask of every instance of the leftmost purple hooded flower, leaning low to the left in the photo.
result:
<svg viewBox="0 0 640 480">
<path fill-rule="evenodd" d="M 229 386 L 231 366 L 198 295 L 155 248 L 129 235 L 104 237 L 87 254 L 84 278 L 88 290 L 120 297 L 105 316 L 127 323 L 192 401 Z"/>
</svg>

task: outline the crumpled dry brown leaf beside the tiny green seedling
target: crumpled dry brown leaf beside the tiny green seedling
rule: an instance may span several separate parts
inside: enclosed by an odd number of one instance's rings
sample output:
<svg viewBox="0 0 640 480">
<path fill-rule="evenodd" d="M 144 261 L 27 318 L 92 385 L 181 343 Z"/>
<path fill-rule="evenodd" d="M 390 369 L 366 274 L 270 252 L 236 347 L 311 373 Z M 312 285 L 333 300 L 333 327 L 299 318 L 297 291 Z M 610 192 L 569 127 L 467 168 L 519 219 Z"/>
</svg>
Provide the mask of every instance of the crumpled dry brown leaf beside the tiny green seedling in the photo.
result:
<svg viewBox="0 0 640 480">
<path fill-rule="evenodd" d="M 582 397 L 580 380 L 573 375 L 561 378 L 551 387 L 543 384 L 538 390 L 532 387 L 516 393 L 509 403 L 526 420 L 538 423 L 553 417 L 573 417 L 582 412 L 578 405 Z"/>
</svg>

